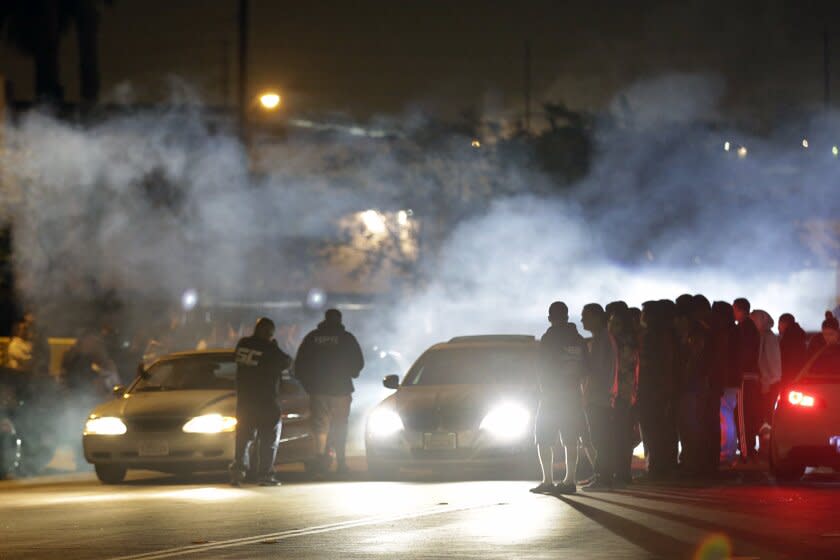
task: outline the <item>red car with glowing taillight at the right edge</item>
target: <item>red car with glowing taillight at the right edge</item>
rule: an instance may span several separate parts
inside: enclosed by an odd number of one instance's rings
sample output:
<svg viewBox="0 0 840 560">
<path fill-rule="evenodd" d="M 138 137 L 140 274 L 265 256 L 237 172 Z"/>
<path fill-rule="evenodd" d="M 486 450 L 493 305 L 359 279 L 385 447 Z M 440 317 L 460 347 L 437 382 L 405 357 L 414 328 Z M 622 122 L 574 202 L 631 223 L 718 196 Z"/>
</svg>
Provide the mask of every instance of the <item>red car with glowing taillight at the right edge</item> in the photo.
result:
<svg viewBox="0 0 840 560">
<path fill-rule="evenodd" d="M 782 389 L 773 415 L 770 465 L 778 481 L 806 467 L 840 470 L 840 345 L 817 353 Z"/>
</svg>

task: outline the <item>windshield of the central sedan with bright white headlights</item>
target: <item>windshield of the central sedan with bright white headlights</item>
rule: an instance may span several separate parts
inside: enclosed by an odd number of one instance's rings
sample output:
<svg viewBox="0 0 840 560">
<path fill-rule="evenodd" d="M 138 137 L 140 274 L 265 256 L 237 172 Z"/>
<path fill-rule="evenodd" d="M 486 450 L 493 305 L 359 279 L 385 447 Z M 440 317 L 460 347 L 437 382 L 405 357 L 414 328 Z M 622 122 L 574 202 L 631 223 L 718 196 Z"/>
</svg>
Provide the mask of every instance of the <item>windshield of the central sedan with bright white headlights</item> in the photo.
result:
<svg viewBox="0 0 840 560">
<path fill-rule="evenodd" d="M 536 365 L 536 347 L 442 348 L 421 356 L 403 385 L 529 385 Z"/>
</svg>

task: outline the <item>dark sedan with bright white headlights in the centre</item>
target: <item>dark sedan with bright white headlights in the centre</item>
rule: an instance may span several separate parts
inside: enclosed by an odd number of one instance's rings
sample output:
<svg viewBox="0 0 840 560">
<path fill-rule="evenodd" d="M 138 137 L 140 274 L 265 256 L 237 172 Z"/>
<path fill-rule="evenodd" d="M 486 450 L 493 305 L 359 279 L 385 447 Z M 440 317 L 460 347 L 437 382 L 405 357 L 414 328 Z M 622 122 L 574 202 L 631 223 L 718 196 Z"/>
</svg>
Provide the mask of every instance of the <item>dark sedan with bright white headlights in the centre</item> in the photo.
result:
<svg viewBox="0 0 840 560">
<path fill-rule="evenodd" d="M 533 336 L 458 337 L 431 347 L 402 383 L 384 379 L 396 392 L 368 416 L 368 470 L 381 477 L 403 467 L 531 474 L 537 361 Z"/>
</svg>

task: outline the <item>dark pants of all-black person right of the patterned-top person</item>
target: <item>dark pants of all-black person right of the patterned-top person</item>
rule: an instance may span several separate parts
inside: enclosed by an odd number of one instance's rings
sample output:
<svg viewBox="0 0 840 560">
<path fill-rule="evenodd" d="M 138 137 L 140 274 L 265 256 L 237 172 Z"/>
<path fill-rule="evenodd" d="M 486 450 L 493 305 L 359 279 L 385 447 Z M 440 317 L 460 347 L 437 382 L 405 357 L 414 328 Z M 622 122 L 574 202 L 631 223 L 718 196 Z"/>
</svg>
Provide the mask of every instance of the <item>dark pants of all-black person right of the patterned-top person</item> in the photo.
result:
<svg viewBox="0 0 840 560">
<path fill-rule="evenodd" d="M 640 397 L 638 411 L 648 474 L 668 476 L 677 464 L 676 445 L 671 445 L 674 426 L 671 407 L 664 397 Z"/>
</svg>

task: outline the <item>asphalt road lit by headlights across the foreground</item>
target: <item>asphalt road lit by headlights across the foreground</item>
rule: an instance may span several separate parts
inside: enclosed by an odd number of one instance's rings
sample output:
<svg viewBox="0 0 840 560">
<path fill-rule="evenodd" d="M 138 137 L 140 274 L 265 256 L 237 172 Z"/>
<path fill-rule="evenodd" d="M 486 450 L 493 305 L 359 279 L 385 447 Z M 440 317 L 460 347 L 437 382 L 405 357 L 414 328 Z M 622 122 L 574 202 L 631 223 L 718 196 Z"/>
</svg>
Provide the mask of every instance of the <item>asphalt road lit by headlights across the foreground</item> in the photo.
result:
<svg viewBox="0 0 840 560">
<path fill-rule="evenodd" d="M 838 558 L 840 484 L 633 485 L 556 498 L 527 481 L 235 489 L 140 473 L 0 483 L 0 558 Z"/>
</svg>

